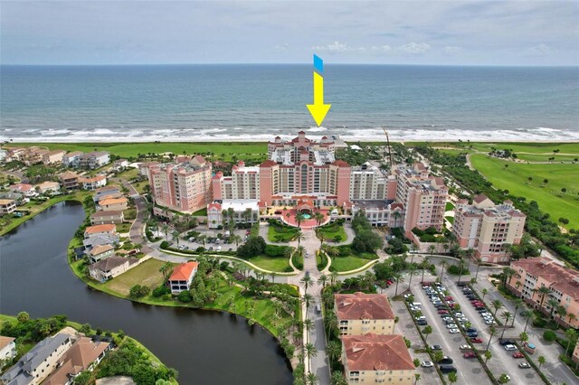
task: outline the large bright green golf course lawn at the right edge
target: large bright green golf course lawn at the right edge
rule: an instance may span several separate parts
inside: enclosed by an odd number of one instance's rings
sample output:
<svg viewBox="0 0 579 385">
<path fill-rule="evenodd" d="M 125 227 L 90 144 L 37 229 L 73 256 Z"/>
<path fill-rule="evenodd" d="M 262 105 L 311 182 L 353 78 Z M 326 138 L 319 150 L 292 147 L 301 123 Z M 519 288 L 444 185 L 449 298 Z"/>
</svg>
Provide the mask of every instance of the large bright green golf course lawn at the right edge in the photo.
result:
<svg viewBox="0 0 579 385">
<path fill-rule="evenodd" d="M 579 227 L 579 164 L 517 164 L 481 154 L 472 155 L 471 161 L 495 187 L 538 202 L 555 221 L 569 219 L 569 228 Z M 549 182 L 542 187 L 544 179 Z M 567 189 L 565 194 L 562 188 Z"/>
</svg>

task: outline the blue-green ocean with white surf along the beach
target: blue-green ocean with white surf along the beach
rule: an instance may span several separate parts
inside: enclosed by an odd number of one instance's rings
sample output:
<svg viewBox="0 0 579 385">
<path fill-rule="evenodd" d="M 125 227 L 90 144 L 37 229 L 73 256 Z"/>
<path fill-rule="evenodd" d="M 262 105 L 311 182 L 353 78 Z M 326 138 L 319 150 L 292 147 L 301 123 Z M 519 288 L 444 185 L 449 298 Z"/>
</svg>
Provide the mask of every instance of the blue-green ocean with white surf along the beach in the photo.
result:
<svg viewBox="0 0 579 385">
<path fill-rule="evenodd" d="M 316 127 L 311 65 L 0 66 L 0 140 L 578 141 L 579 68 L 332 65 Z"/>
</svg>

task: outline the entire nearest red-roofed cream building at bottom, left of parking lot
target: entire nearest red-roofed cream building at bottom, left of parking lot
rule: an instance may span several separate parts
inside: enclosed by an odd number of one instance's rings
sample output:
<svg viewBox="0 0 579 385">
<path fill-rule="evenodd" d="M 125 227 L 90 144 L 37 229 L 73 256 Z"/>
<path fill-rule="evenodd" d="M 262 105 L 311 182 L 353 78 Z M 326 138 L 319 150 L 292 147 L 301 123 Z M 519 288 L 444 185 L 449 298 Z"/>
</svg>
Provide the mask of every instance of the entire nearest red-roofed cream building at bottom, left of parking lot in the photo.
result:
<svg viewBox="0 0 579 385">
<path fill-rule="evenodd" d="M 342 362 L 348 384 L 413 385 L 413 359 L 399 334 L 344 335 Z"/>
</svg>

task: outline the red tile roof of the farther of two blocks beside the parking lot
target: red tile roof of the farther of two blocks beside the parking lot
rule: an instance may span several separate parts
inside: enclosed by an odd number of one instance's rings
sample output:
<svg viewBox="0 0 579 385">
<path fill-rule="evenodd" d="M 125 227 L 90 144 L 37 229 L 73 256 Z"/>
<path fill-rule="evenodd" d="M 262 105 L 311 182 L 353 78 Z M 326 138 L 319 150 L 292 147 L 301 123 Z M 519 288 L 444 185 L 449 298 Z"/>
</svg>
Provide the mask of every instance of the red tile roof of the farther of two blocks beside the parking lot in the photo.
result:
<svg viewBox="0 0 579 385">
<path fill-rule="evenodd" d="M 337 294 L 334 296 L 339 320 L 394 319 L 388 298 L 381 294 Z"/>
</svg>

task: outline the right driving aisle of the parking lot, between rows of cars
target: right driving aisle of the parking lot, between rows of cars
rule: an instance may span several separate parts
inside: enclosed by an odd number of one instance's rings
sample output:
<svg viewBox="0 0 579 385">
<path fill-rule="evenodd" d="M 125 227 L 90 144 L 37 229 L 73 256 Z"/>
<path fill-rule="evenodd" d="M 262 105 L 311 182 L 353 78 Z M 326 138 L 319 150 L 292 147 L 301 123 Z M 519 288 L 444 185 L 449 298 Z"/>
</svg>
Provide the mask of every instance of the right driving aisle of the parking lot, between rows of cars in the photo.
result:
<svg viewBox="0 0 579 385">
<path fill-rule="evenodd" d="M 479 336 L 483 340 L 483 343 L 480 344 L 479 349 L 484 350 L 487 346 L 487 343 L 489 343 L 490 325 L 484 322 L 484 319 L 480 316 L 479 312 L 470 303 L 470 299 L 462 293 L 462 287 L 457 286 L 454 279 L 444 279 L 443 283 L 449 290 L 453 300 L 460 305 L 460 312 L 466 315 L 466 317 L 469 319 L 471 327 L 478 330 Z M 499 319 L 500 314 L 503 311 L 504 310 L 501 309 L 498 310 L 497 316 Z M 494 310 L 491 309 L 491 313 L 494 313 Z M 489 346 L 489 351 L 492 352 L 492 358 L 487 362 L 490 371 L 493 372 L 495 377 L 498 379 L 500 374 L 506 373 L 511 378 L 511 380 L 508 382 L 510 384 L 535 385 L 544 383 L 533 368 L 521 369 L 518 367 L 519 363 L 527 362 L 527 360 L 525 358 L 513 358 L 513 353 L 515 351 L 509 352 L 505 350 L 505 348 L 498 341 L 498 337 L 500 337 L 500 334 L 502 333 L 502 326 L 495 325 L 495 327 L 497 328 L 497 333 L 495 333 L 495 336 L 493 337 Z M 522 332 L 522 330 L 519 331 L 508 328 L 505 332 L 504 338 L 514 337 L 517 340 L 518 333 L 520 332 Z"/>
</svg>

